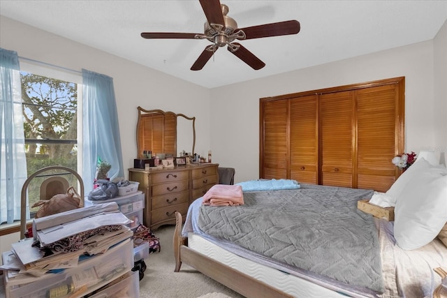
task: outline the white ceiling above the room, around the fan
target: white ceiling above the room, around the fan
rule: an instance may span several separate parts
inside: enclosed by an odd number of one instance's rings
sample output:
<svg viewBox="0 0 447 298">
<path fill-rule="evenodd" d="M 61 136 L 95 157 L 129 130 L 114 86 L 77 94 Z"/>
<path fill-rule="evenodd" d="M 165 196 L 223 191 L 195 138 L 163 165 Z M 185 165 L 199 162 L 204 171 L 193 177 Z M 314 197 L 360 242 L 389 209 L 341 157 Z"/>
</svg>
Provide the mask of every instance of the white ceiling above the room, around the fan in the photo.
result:
<svg viewBox="0 0 447 298">
<path fill-rule="evenodd" d="M 240 28 L 298 20 L 301 31 L 241 40 L 265 62 L 261 70 L 221 48 L 203 70 L 192 71 L 209 41 L 149 40 L 140 33 L 203 33 L 205 14 L 198 0 L 0 0 L 0 13 L 207 88 L 431 40 L 447 20 L 447 0 L 221 3 Z"/>
</svg>

